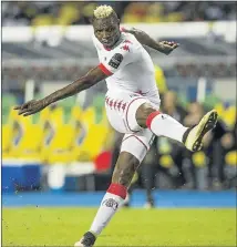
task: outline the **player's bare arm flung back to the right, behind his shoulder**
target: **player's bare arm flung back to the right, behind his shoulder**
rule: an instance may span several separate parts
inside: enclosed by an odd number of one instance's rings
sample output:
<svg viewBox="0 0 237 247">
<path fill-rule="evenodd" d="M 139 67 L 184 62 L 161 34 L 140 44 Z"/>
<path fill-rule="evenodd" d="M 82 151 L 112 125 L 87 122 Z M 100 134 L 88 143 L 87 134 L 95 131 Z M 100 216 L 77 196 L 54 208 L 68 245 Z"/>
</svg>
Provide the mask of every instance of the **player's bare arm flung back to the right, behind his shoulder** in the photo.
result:
<svg viewBox="0 0 237 247">
<path fill-rule="evenodd" d="M 175 43 L 173 41 L 172 42 L 169 42 L 169 41 L 156 42 L 148 34 L 146 34 L 144 31 L 141 31 L 141 30 L 137 30 L 134 28 L 130 29 L 130 30 L 123 28 L 123 31 L 135 35 L 135 38 L 140 41 L 140 43 L 147 45 L 152 49 L 155 49 L 156 51 L 159 51 L 166 55 L 168 55 L 174 49 L 179 47 L 178 43 Z"/>
</svg>

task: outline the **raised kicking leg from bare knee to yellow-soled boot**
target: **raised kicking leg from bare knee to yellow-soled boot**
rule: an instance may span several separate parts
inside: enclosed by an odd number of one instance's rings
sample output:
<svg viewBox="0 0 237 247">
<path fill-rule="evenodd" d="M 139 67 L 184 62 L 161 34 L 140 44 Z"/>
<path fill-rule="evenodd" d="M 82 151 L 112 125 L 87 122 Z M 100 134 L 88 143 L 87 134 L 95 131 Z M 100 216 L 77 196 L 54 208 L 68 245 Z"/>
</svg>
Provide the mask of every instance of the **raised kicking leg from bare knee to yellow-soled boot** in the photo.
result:
<svg viewBox="0 0 237 247">
<path fill-rule="evenodd" d="M 215 127 L 217 112 L 213 110 L 196 126 L 185 127 L 169 115 L 161 113 L 148 103 L 144 103 L 136 111 L 136 121 L 141 127 L 148 127 L 155 135 L 176 140 L 189 151 L 196 152 L 202 148 L 204 135 Z"/>
</svg>

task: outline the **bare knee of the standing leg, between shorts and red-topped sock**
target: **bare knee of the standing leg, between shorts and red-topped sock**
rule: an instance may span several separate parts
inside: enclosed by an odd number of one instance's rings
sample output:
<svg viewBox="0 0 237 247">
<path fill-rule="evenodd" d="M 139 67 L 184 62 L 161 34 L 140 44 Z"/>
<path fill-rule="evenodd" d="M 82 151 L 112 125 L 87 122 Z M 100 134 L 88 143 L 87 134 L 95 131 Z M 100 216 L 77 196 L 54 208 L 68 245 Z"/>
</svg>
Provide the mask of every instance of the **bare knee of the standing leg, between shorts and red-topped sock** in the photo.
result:
<svg viewBox="0 0 237 247">
<path fill-rule="evenodd" d="M 140 161 L 135 156 L 128 153 L 125 153 L 125 155 L 121 154 L 113 173 L 112 183 L 128 187 L 138 166 Z"/>
</svg>

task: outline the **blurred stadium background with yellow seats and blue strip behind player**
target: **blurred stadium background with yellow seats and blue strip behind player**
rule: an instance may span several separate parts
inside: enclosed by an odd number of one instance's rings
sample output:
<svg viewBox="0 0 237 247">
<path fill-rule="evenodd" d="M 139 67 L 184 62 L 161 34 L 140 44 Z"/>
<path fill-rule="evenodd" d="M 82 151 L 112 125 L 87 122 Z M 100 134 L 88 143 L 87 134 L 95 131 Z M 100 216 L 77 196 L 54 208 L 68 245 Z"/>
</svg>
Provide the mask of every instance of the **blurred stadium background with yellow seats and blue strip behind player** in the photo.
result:
<svg viewBox="0 0 237 247">
<path fill-rule="evenodd" d="M 97 206 L 110 184 L 122 136 L 106 120 L 105 83 L 32 117 L 12 110 L 97 64 L 90 17 L 101 3 L 116 10 L 122 25 L 181 43 L 168 56 L 147 49 L 163 112 L 185 125 L 209 109 L 219 113 L 198 153 L 156 138 L 126 206 L 235 207 L 236 2 L 183 1 L 1 3 L 3 207 Z"/>
</svg>

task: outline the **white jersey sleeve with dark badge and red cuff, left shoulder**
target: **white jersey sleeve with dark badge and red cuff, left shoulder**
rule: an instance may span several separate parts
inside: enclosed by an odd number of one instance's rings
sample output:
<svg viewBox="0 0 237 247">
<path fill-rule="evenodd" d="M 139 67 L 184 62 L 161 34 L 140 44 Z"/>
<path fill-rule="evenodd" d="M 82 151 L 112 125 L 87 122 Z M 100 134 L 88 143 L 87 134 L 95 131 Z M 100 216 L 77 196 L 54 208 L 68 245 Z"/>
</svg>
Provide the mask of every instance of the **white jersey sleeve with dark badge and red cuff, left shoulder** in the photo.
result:
<svg viewBox="0 0 237 247">
<path fill-rule="evenodd" d="M 100 63 L 101 70 L 107 74 L 112 75 L 116 71 L 123 69 L 130 63 L 136 62 L 138 60 L 138 52 L 135 51 L 130 43 L 123 43 L 117 49 L 110 52 L 106 61 Z"/>
</svg>

